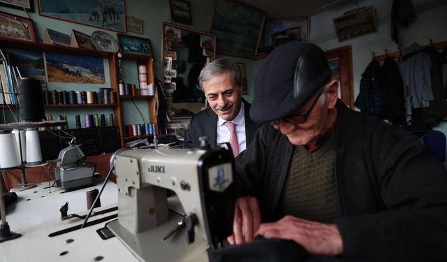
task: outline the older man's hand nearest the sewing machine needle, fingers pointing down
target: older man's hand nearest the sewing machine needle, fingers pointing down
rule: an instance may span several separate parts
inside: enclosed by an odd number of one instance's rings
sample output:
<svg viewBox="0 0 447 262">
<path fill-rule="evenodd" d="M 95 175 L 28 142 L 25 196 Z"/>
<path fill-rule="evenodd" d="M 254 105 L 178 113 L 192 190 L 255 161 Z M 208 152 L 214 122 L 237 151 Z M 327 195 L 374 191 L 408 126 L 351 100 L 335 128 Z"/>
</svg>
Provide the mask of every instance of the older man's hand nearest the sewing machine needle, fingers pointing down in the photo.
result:
<svg viewBox="0 0 447 262">
<path fill-rule="evenodd" d="M 261 212 L 258 201 L 254 197 L 237 198 L 235 203 L 235 217 L 233 219 L 233 235 L 227 240 L 230 245 L 239 245 L 253 240 L 254 233 L 261 224 Z"/>
</svg>

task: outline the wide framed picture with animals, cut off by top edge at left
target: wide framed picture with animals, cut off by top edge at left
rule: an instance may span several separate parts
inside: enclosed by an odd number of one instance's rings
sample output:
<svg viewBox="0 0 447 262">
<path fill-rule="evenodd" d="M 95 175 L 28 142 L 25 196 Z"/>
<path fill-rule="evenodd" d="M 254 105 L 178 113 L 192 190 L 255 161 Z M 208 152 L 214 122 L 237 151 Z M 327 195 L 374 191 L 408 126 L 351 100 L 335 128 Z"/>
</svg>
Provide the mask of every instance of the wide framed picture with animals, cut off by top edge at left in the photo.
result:
<svg viewBox="0 0 447 262">
<path fill-rule="evenodd" d="M 112 31 L 126 32 L 124 0 L 38 0 L 39 15 Z"/>
</svg>

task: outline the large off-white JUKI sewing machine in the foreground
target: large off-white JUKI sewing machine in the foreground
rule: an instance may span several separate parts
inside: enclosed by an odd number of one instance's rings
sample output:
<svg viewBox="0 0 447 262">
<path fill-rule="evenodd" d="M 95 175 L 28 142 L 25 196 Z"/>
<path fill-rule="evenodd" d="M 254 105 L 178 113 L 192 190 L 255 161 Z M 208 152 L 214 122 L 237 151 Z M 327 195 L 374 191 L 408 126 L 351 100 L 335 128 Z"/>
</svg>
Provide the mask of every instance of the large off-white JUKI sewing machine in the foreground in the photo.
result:
<svg viewBox="0 0 447 262">
<path fill-rule="evenodd" d="M 207 261 L 232 232 L 233 170 L 220 147 L 121 152 L 118 219 L 107 226 L 141 261 Z M 178 205 L 168 205 L 166 189 Z"/>
</svg>

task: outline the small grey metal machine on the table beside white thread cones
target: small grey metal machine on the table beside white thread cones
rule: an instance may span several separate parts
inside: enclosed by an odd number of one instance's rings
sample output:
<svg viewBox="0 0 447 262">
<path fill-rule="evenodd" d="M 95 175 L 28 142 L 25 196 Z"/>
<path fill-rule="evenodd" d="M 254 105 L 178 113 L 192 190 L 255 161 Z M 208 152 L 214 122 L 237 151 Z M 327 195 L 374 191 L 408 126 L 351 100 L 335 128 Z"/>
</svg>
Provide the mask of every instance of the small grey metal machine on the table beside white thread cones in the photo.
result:
<svg viewBox="0 0 447 262">
<path fill-rule="evenodd" d="M 57 186 L 69 191 L 93 184 L 95 168 L 94 163 L 85 162 L 85 154 L 73 138 L 57 157 L 54 167 Z"/>
</svg>

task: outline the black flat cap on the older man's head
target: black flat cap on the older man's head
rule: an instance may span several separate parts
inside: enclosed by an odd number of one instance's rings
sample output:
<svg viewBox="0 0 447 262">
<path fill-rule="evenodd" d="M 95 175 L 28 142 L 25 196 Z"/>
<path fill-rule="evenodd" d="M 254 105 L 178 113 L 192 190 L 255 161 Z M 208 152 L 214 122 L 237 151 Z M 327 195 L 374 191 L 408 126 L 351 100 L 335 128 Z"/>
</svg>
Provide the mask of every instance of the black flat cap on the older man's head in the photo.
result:
<svg viewBox="0 0 447 262">
<path fill-rule="evenodd" d="M 268 123 L 304 105 L 332 76 L 321 48 L 312 43 L 280 45 L 256 72 L 250 117 Z"/>
</svg>

